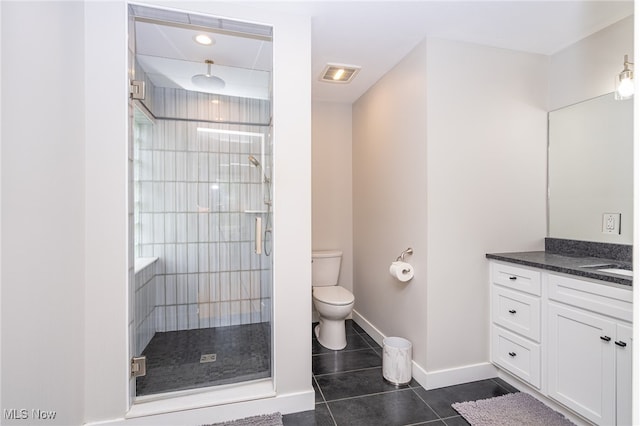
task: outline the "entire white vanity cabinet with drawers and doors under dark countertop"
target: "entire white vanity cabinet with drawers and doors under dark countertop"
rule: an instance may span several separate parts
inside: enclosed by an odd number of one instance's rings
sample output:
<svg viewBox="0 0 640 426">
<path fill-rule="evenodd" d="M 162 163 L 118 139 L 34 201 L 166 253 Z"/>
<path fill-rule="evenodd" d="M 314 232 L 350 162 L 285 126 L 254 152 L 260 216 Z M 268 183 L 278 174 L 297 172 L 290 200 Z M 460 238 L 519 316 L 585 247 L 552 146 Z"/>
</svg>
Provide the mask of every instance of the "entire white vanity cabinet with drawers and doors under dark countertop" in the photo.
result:
<svg viewBox="0 0 640 426">
<path fill-rule="evenodd" d="M 631 287 L 490 263 L 491 361 L 597 425 L 631 424 Z"/>
</svg>

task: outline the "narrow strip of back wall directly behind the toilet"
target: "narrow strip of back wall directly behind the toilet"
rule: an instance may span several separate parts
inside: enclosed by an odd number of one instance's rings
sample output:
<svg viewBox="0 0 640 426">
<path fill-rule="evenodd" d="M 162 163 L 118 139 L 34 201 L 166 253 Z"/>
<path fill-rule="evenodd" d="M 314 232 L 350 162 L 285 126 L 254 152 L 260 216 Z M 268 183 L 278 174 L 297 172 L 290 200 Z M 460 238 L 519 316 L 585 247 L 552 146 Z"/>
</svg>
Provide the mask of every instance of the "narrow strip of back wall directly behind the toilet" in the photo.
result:
<svg viewBox="0 0 640 426">
<path fill-rule="evenodd" d="M 342 250 L 339 285 L 353 289 L 351 104 L 312 105 L 314 250 Z"/>
</svg>

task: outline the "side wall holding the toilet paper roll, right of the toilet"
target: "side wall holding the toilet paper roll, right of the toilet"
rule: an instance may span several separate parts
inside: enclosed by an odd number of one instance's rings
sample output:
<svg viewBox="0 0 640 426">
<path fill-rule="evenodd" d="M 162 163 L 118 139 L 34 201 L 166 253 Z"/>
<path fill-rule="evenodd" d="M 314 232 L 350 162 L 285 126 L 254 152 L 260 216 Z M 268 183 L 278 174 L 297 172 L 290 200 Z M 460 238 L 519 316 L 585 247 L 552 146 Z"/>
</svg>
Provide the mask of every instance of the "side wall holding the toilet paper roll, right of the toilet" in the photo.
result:
<svg viewBox="0 0 640 426">
<path fill-rule="evenodd" d="M 354 309 L 386 336 L 413 343 L 425 365 L 427 336 L 427 87 L 420 44 L 353 105 Z M 406 248 L 415 277 L 389 265 Z"/>
</svg>

